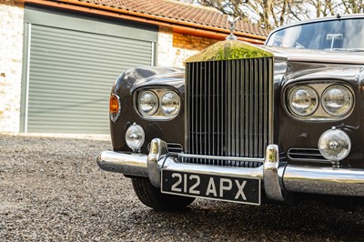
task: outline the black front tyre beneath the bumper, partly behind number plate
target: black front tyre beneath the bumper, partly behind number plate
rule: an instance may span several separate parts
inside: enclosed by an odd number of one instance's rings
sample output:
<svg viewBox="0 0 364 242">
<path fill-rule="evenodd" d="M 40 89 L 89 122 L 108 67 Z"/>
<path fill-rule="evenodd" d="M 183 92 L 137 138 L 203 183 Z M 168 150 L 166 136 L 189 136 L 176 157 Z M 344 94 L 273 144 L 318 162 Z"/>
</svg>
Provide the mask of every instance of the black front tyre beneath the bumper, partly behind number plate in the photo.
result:
<svg viewBox="0 0 364 242">
<path fill-rule="evenodd" d="M 154 187 L 146 177 L 134 177 L 131 181 L 139 200 L 147 207 L 158 211 L 182 210 L 195 200 L 193 197 L 163 194 L 160 188 Z"/>
</svg>

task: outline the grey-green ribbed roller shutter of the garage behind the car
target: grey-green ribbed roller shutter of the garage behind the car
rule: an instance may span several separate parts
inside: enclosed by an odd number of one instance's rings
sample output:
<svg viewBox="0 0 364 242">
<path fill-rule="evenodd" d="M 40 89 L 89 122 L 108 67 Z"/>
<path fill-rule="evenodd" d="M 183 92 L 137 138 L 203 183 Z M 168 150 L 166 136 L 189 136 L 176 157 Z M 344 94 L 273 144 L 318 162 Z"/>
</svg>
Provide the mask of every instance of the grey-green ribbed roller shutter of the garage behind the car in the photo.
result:
<svg viewBox="0 0 364 242">
<path fill-rule="evenodd" d="M 27 33 L 25 132 L 107 134 L 116 77 L 153 65 L 152 41 L 37 24 Z"/>
</svg>

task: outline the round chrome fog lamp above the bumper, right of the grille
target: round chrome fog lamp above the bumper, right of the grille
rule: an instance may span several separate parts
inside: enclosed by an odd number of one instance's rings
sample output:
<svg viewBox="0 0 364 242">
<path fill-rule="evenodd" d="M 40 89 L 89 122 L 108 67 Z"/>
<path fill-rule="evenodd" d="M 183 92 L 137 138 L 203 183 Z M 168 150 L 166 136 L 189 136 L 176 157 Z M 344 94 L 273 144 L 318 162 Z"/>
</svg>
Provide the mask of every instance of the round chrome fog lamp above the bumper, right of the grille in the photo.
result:
<svg viewBox="0 0 364 242">
<path fill-rule="evenodd" d="M 339 129 L 329 129 L 319 137 L 319 153 L 331 161 L 340 161 L 349 155 L 351 140 Z"/>
</svg>

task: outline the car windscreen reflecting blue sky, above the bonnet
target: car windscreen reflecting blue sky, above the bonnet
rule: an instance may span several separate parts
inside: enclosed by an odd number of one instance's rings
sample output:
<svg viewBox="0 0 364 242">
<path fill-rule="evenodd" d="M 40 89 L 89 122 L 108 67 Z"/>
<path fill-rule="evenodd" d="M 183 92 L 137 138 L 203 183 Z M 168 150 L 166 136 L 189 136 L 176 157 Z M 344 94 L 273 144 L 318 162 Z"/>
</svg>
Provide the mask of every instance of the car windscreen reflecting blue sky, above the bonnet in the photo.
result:
<svg viewBox="0 0 364 242">
<path fill-rule="evenodd" d="M 364 49 L 364 18 L 290 26 L 270 35 L 267 45 L 319 50 Z"/>
</svg>

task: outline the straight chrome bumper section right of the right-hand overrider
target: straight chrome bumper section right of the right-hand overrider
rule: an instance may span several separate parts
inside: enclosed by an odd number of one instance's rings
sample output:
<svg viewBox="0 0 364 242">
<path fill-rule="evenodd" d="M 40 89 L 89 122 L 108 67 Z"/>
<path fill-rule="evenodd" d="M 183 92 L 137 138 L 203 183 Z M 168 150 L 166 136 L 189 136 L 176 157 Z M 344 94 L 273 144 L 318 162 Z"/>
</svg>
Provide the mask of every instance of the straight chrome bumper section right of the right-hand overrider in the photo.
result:
<svg viewBox="0 0 364 242">
<path fill-rule="evenodd" d="M 364 170 L 289 165 L 283 175 L 288 191 L 364 197 Z"/>
</svg>

